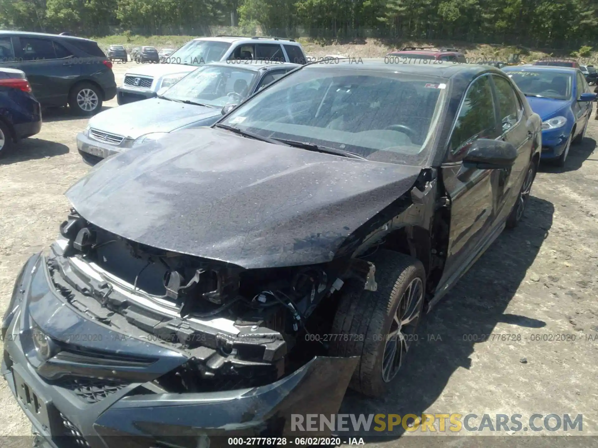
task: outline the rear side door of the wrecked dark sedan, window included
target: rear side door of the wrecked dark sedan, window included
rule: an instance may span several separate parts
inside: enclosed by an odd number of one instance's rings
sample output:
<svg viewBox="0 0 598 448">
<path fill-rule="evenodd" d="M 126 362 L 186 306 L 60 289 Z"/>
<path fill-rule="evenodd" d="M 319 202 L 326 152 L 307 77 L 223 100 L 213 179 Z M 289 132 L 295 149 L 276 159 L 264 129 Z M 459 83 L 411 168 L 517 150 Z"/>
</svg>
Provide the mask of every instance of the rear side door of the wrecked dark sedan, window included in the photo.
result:
<svg viewBox="0 0 598 448">
<path fill-rule="evenodd" d="M 497 219 L 507 219 L 517 200 L 527 167 L 531 160 L 533 133 L 529 117 L 525 115 L 520 97 L 512 82 L 506 76 L 490 76 L 494 84 L 498 119 L 501 125 L 501 139 L 517 148 L 517 159 L 510 170 L 500 170 L 496 196 Z"/>
</svg>

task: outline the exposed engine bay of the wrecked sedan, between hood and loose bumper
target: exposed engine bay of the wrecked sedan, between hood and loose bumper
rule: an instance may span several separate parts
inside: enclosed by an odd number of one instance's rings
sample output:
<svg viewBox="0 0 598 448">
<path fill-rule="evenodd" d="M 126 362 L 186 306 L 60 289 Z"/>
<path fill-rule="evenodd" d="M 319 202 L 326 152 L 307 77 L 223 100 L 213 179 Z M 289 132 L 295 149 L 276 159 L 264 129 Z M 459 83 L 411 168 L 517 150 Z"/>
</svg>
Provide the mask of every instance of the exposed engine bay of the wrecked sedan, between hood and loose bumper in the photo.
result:
<svg viewBox="0 0 598 448">
<path fill-rule="evenodd" d="M 327 351 L 310 335 L 329 330 L 344 282 L 354 278 L 376 290 L 374 265 L 361 259 L 244 269 L 126 240 L 74 209 L 60 233 L 48 270 L 74 308 L 189 357 L 158 379 L 170 392 L 276 381 Z"/>
</svg>

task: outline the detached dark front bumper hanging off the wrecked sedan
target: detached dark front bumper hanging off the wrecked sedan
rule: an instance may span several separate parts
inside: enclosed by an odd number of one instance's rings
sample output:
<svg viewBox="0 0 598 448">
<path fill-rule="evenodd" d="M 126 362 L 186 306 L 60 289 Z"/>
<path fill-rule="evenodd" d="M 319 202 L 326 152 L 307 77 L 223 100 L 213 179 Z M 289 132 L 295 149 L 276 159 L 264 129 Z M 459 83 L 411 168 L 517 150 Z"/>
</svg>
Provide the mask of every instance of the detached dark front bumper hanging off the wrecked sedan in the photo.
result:
<svg viewBox="0 0 598 448">
<path fill-rule="evenodd" d="M 214 448 L 228 446 L 228 437 L 299 436 L 291 431 L 291 413 L 337 413 L 358 363 L 357 357 L 314 357 L 265 386 L 164 393 L 152 381 L 188 358 L 75 310 L 54 289 L 41 254 L 17 278 L 2 334 L 1 373 L 34 432 L 52 448 L 149 448 L 173 438 L 190 448 L 207 448 L 209 439 Z M 40 334 L 60 349 L 44 357 L 45 348 L 33 340 Z"/>
</svg>

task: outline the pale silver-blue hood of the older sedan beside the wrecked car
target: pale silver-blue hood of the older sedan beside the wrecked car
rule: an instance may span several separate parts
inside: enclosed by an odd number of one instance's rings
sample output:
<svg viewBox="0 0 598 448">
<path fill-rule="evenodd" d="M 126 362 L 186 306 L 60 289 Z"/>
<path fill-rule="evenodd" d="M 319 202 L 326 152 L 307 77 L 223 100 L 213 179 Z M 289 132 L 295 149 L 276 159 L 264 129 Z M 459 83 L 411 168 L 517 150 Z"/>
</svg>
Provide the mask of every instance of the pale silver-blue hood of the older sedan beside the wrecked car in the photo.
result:
<svg viewBox="0 0 598 448">
<path fill-rule="evenodd" d="M 220 111 L 221 108 L 150 98 L 106 109 L 90 118 L 89 125 L 135 140 L 152 132 L 171 132 L 193 123 L 202 124 L 209 118 L 220 118 Z"/>
</svg>

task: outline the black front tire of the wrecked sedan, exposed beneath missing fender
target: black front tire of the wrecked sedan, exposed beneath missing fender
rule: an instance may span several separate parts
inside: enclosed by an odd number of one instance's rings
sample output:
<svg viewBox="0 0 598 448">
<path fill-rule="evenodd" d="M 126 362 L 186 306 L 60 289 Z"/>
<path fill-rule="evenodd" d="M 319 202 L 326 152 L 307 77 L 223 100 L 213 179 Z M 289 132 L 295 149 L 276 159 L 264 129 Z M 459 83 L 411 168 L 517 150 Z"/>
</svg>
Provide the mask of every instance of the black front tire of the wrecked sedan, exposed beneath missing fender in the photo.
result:
<svg viewBox="0 0 598 448">
<path fill-rule="evenodd" d="M 337 312 L 332 323 L 332 334 L 349 335 L 347 339 L 336 337 L 329 348 L 331 356 L 350 357 L 359 356 L 361 360 L 353 372 L 349 387 L 370 397 L 382 397 L 390 390 L 396 373 L 404 363 L 404 355 L 408 348 L 417 340 L 417 324 L 423 314 L 425 300 L 426 272 L 422 263 L 410 256 L 390 250 L 378 250 L 370 259 L 376 265 L 377 291 L 363 289 L 363 284 L 358 281 L 347 281 L 343 289 L 346 293 L 340 299 Z M 405 310 L 405 315 L 413 316 L 408 329 L 409 337 L 389 338 L 391 329 L 398 328 L 397 312 L 402 311 L 407 300 L 404 295 L 413 286 L 417 292 L 417 303 L 411 303 L 410 309 Z M 411 290 L 410 290 L 411 291 Z M 419 291 L 421 296 L 419 296 Z M 405 300 L 402 300 L 405 299 Z M 399 308 L 401 306 L 401 308 Z M 385 348 L 392 343 L 401 348 L 399 368 L 393 375 L 383 379 L 383 360 Z M 402 349 L 405 348 L 405 352 Z M 391 353 L 391 352 L 389 352 Z M 396 362 L 393 356 L 392 366 Z M 388 363 L 386 364 L 388 366 Z M 389 378 L 390 377 L 390 378 Z"/>
</svg>

